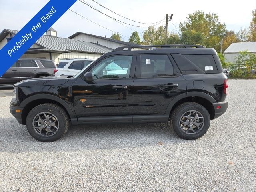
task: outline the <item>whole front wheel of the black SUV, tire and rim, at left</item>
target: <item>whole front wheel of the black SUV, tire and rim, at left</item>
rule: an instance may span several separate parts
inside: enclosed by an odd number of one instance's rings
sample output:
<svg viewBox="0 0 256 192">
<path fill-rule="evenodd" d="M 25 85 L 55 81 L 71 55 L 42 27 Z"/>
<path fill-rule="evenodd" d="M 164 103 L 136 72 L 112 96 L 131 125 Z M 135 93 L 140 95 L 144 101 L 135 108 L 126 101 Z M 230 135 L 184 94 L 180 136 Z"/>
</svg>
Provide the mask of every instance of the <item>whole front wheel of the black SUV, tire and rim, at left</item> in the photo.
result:
<svg viewBox="0 0 256 192">
<path fill-rule="evenodd" d="M 34 107 L 28 113 L 26 126 L 30 135 L 36 140 L 52 142 L 67 132 L 69 119 L 60 106 L 45 103 Z"/>
</svg>

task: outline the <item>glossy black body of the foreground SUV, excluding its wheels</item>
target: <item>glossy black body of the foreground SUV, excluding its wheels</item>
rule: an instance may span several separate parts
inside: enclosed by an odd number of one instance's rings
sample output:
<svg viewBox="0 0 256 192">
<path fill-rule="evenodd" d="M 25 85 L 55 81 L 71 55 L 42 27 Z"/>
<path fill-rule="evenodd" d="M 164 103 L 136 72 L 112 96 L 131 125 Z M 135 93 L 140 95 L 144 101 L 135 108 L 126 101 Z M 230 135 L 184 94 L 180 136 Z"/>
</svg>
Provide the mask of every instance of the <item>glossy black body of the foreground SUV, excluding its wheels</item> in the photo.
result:
<svg viewBox="0 0 256 192">
<path fill-rule="evenodd" d="M 181 55 L 178 56 L 181 60 L 175 60 L 177 57 L 174 54 Z M 178 104 L 194 101 L 206 107 L 211 119 L 214 119 L 228 107 L 224 91 L 227 78 L 222 73 L 220 62 L 216 62 L 216 54 L 211 48 L 114 50 L 92 62 L 74 77 L 54 76 L 15 84 L 18 98 L 11 101 L 10 111 L 22 124 L 26 124 L 28 110 L 44 102 L 62 106 L 72 124 L 167 122 Z M 179 62 L 193 63 L 188 59 L 189 55 L 206 56 L 210 58 L 209 63 L 214 62 L 214 65 L 191 64 L 186 70 Z M 100 66 L 105 59 L 111 60 L 116 56 L 132 58 L 126 68 L 127 72 L 130 70 L 129 74 L 116 77 L 102 70 L 100 78 L 93 77 L 92 81 L 86 82 L 86 72 Z M 154 56 L 160 59 L 154 60 Z M 164 59 L 161 60 L 161 57 Z M 188 64 L 185 62 L 184 66 Z M 122 68 L 126 65 L 120 63 Z M 152 67 L 150 65 L 154 65 L 152 71 L 148 70 Z M 204 71 L 204 68 L 215 70 L 216 73 Z M 15 109 L 21 109 L 22 112 L 17 114 Z"/>
</svg>

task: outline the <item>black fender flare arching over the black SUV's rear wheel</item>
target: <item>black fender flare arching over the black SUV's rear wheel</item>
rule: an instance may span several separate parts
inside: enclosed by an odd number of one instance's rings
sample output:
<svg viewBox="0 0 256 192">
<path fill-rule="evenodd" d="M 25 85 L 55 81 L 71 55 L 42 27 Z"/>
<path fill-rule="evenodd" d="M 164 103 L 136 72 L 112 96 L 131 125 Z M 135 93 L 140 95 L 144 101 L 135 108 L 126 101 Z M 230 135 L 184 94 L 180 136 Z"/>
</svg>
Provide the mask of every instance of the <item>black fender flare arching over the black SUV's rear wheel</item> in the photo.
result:
<svg viewBox="0 0 256 192">
<path fill-rule="evenodd" d="M 165 114 L 170 114 L 173 106 L 181 99 L 187 98 L 187 97 L 192 97 L 192 96 L 196 96 L 196 97 L 202 97 L 205 98 L 206 100 L 210 101 L 211 103 L 216 103 L 216 100 L 204 93 L 204 92 L 198 92 L 198 91 L 191 91 L 191 92 L 186 92 L 186 93 L 182 93 L 178 96 L 176 96 L 168 105 L 168 107 L 166 108 Z"/>
</svg>

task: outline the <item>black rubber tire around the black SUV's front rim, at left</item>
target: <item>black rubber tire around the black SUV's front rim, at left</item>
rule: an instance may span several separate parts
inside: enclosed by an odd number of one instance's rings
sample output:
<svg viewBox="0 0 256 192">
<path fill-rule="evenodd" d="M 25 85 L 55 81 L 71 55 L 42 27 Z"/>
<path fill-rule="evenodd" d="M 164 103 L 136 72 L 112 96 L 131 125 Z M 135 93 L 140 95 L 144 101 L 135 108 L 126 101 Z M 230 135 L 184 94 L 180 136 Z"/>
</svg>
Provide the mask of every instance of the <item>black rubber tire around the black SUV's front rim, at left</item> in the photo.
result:
<svg viewBox="0 0 256 192">
<path fill-rule="evenodd" d="M 38 114 L 43 113 L 43 112 L 46 114 L 50 113 L 50 114 L 54 115 L 54 118 L 56 117 L 56 120 L 58 120 L 58 130 L 55 133 L 49 132 L 48 136 L 41 135 L 34 128 L 34 119 L 36 118 L 36 116 L 38 116 Z M 40 105 L 34 107 L 28 113 L 28 116 L 26 118 L 26 126 L 27 126 L 27 130 L 30 133 L 30 135 L 32 137 L 34 137 L 36 140 L 42 141 L 42 142 L 52 142 L 52 141 L 58 140 L 67 132 L 67 130 L 69 128 L 69 118 L 68 118 L 68 115 L 65 112 L 65 110 L 63 108 L 61 108 L 60 106 L 58 106 L 56 104 L 45 103 L 45 104 L 40 104 Z M 49 136 L 49 134 L 53 134 L 53 135 Z M 46 135 L 47 135 L 47 133 L 46 133 Z"/>
</svg>

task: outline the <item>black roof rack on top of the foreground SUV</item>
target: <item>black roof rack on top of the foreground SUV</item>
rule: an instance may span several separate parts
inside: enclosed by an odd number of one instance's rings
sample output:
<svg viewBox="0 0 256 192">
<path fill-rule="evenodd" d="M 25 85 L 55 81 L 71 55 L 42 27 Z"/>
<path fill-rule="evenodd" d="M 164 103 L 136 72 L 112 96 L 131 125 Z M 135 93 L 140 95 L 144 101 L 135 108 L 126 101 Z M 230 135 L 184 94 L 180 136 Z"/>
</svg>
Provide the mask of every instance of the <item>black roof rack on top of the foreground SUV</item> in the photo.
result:
<svg viewBox="0 0 256 192">
<path fill-rule="evenodd" d="M 146 48 L 146 47 L 151 47 L 151 48 L 172 48 L 172 47 L 180 47 L 180 48 L 205 48 L 202 45 L 135 45 L 135 46 L 122 46 L 118 47 L 113 51 L 131 51 L 132 48 Z"/>
</svg>

